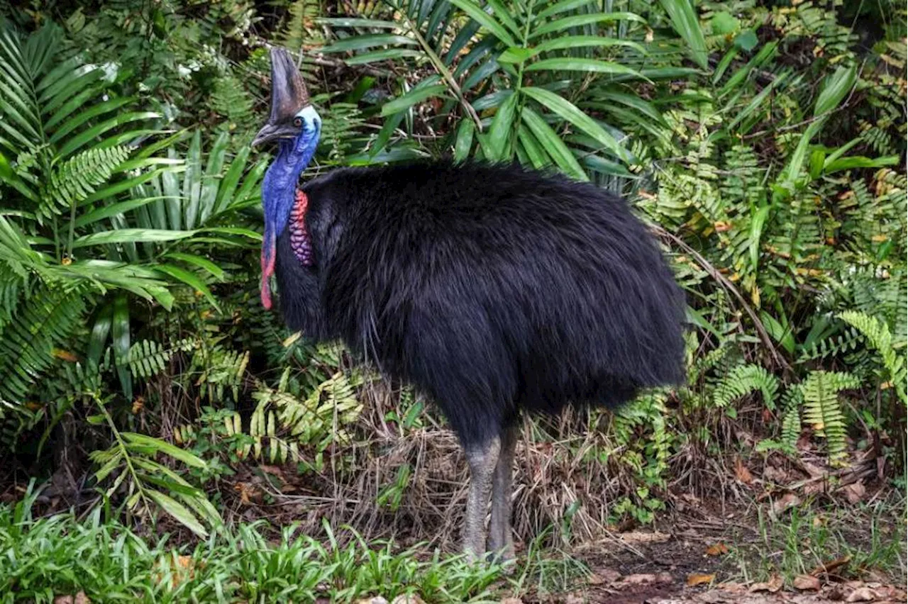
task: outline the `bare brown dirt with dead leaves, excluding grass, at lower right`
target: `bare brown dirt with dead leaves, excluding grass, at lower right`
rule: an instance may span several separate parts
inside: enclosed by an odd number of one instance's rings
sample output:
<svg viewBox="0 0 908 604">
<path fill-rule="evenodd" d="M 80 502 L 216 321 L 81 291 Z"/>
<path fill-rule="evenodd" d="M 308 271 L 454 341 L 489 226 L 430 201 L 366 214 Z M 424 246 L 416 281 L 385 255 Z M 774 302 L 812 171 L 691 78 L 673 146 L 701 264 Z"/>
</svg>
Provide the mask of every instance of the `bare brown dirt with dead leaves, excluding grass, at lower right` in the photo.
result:
<svg viewBox="0 0 908 604">
<path fill-rule="evenodd" d="M 851 557 L 835 558 L 833 552 L 824 564 L 803 574 L 785 578 L 770 572 L 765 580 L 747 581 L 742 568 L 755 569 L 758 560 L 742 559 L 747 549 L 740 542 L 731 545 L 727 526 L 685 526 L 682 521 L 671 533 L 668 526 L 663 527 L 666 532 L 630 531 L 614 541 L 587 545 L 574 555 L 592 574 L 578 577 L 573 589 L 552 593 L 531 588 L 522 598 L 502 604 L 908 602 L 908 589 L 893 584 L 891 573 L 866 569 L 857 577 L 854 569 L 844 571 Z"/>
</svg>

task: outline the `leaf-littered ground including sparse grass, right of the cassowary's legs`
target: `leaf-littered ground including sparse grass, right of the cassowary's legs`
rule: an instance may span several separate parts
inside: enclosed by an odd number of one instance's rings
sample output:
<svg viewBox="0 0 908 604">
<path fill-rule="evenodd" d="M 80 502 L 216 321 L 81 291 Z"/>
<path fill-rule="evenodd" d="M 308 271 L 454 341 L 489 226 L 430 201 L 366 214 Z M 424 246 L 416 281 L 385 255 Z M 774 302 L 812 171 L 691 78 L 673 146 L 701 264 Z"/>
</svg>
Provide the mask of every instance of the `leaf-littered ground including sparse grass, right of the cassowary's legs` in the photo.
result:
<svg viewBox="0 0 908 604">
<path fill-rule="evenodd" d="M 902 514 L 802 508 L 775 521 L 745 510 L 704 520 L 675 514 L 658 529 L 586 543 L 573 580 L 556 564 L 505 604 L 824 604 L 908 602 Z M 568 564 L 562 560 L 561 569 Z"/>
</svg>

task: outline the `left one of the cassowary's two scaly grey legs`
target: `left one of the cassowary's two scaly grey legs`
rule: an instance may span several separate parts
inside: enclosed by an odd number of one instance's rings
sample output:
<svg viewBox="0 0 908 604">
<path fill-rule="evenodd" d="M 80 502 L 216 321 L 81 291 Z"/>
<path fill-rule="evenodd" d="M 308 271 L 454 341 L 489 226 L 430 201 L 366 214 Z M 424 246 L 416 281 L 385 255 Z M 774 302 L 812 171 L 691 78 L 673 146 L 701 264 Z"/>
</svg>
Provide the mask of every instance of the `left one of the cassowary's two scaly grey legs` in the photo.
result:
<svg viewBox="0 0 908 604">
<path fill-rule="evenodd" d="M 501 438 L 470 446 L 466 452 L 469 464 L 467 514 L 463 526 L 463 550 L 469 560 L 479 560 L 486 546 L 486 506 L 492 489 L 492 474 L 501 453 Z"/>
</svg>

